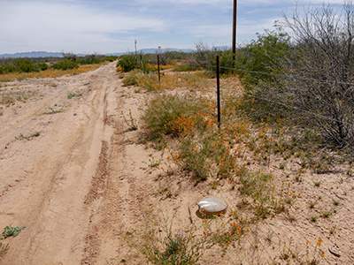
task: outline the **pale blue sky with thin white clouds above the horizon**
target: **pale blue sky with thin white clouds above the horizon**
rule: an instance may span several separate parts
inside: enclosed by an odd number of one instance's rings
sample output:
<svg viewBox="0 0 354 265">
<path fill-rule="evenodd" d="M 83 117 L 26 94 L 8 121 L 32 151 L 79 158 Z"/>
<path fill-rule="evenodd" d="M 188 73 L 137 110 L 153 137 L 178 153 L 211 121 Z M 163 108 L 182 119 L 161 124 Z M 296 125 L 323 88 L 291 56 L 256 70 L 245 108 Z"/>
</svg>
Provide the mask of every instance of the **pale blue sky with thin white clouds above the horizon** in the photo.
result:
<svg viewBox="0 0 354 265">
<path fill-rule="evenodd" d="M 238 0 L 237 43 L 256 38 L 295 6 L 296 0 Z M 0 53 L 124 52 L 135 49 L 135 39 L 138 49 L 231 46 L 232 8 L 233 0 L 0 0 Z"/>
</svg>

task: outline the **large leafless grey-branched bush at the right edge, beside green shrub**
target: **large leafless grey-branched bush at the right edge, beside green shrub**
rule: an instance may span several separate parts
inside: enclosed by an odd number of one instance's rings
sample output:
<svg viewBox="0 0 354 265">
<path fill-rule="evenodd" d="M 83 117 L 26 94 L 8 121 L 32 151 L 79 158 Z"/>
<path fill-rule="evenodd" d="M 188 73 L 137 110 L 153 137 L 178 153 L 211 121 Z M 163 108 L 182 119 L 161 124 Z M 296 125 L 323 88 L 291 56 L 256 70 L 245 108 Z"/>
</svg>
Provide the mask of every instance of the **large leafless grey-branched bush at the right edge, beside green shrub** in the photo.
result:
<svg viewBox="0 0 354 265">
<path fill-rule="evenodd" d="M 282 99 L 303 111 L 328 142 L 354 144 L 354 8 L 346 1 L 341 14 L 330 5 L 296 10 L 284 16 L 294 49 L 284 63 Z M 279 96 L 279 95 L 278 95 Z"/>
</svg>

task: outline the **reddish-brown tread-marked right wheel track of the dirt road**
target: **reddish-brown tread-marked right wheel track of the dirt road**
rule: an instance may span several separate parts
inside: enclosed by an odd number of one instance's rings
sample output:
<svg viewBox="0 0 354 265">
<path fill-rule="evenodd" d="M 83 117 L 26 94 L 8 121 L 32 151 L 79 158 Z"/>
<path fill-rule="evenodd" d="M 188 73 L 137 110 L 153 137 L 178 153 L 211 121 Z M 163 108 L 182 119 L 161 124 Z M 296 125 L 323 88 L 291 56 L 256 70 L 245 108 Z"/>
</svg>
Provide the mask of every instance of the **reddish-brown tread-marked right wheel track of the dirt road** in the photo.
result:
<svg viewBox="0 0 354 265">
<path fill-rule="evenodd" d="M 108 148 L 103 145 L 101 169 L 96 171 L 87 200 L 96 207 L 91 209 L 81 264 L 118 264 L 127 257 L 131 249 L 122 237 L 142 222 L 141 208 L 150 204 L 145 179 L 139 179 L 129 166 L 134 157 L 127 154 L 123 118 L 112 116 L 112 106 L 119 106 L 120 112 L 123 105 L 121 92 L 116 101 L 108 102 L 107 117 L 114 133 Z"/>
</svg>

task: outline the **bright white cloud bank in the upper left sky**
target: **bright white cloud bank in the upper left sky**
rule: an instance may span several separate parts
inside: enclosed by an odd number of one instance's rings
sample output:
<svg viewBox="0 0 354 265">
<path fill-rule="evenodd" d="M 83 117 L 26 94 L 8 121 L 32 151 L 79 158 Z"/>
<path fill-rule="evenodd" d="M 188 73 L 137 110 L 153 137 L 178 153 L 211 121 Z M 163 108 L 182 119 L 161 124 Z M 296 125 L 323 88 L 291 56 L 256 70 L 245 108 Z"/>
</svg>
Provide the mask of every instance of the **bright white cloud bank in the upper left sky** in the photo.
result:
<svg viewBox="0 0 354 265">
<path fill-rule="evenodd" d="M 74 52 L 90 52 L 89 47 L 117 47 L 119 40 L 110 35 L 148 30 L 151 22 L 123 11 L 89 8 L 76 1 L 5 1 L 0 4 L 0 46 L 4 49 L 7 45 L 11 52 L 26 44 L 37 49 L 72 47 Z"/>
</svg>

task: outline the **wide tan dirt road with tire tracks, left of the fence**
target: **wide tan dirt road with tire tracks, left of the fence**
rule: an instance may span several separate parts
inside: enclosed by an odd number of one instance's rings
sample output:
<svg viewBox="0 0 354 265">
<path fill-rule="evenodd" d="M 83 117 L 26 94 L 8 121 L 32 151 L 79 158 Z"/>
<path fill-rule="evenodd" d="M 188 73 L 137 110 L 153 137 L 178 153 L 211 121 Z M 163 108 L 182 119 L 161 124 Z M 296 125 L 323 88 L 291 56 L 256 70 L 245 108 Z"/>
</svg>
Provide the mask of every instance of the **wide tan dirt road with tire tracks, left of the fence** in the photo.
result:
<svg viewBox="0 0 354 265">
<path fill-rule="evenodd" d="M 120 88 L 114 63 L 1 88 L 27 96 L 0 117 L 0 227 L 26 226 L 2 240 L 10 249 L 0 264 L 121 261 L 119 234 L 139 217 L 146 183 L 122 171 L 134 154 L 123 144 Z"/>
</svg>

